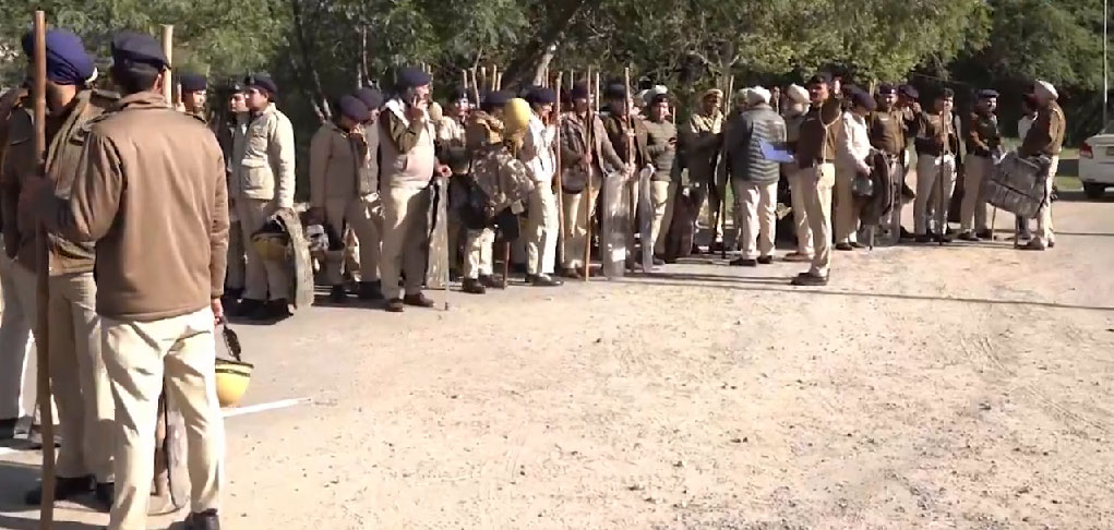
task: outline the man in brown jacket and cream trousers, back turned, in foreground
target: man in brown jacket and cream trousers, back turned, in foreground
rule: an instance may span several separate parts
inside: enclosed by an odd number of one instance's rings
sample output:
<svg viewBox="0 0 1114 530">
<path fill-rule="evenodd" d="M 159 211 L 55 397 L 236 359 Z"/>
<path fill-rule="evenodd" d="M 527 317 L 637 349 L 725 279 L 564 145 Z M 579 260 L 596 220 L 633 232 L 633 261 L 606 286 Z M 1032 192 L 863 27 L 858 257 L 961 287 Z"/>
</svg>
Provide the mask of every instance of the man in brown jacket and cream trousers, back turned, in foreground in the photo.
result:
<svg viewBox="0 0 1114 530">
<path fill-rule="evenodd" d="M 88 129 L 71 195 L 56 197 L 30 179 L 20 202 L 51 233 L 97 245 L 97 313 L 118 436 L 109 530 L 147 528 L 164 381 L 188 425 L 185 529 L 217 530 L 224 428 L 214 323 L 223 320 L 228 244 L 224 160 L 204 125 L 167 107 L 167 61 L 154 39 L 119 33 L 111 51 L 113 79 L 126 95 Z"/>
</svg>

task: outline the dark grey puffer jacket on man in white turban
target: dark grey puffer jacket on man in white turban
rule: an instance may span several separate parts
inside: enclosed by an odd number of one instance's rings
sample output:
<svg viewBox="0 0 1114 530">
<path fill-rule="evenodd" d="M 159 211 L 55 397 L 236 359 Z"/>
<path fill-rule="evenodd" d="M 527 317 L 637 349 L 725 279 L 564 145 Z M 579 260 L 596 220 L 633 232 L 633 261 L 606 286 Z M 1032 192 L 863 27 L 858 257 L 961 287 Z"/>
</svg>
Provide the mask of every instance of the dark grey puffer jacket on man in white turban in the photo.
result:
<svg viewBox="0 0 1114 530">
<path fill-rule="evenodd" d="M 724 170 L 731 178 L 755 184 L 773 184 L 781 165 L 762 155 L 762 143 L 773 147 L 785 144 L 785 120 L 766 104 L 736 116 L 724 127 Z"/>
</svg>

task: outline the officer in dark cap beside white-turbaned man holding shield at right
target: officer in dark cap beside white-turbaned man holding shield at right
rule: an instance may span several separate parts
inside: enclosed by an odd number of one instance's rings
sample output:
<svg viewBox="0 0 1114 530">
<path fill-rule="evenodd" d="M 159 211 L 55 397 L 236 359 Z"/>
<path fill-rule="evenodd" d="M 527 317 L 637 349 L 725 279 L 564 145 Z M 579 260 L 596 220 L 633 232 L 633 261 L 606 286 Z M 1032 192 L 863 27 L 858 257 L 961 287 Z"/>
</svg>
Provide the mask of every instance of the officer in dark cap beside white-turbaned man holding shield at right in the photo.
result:
<svg viewBox="0 0 1114 530">
<path fill-rule="evenodd" d="M 968 157 L 964 165 L 964 200 L 959 220 L 959 238 L 968 242 L 994 237 L 991 227 L 987 225 L 983 180 L 994 170 L 994 157 L 1001 150 L 998 117 L 994 114 L 998 108 L 998 92 L 979 90 L 977 97 L 967 126 Z"/>
</svg>

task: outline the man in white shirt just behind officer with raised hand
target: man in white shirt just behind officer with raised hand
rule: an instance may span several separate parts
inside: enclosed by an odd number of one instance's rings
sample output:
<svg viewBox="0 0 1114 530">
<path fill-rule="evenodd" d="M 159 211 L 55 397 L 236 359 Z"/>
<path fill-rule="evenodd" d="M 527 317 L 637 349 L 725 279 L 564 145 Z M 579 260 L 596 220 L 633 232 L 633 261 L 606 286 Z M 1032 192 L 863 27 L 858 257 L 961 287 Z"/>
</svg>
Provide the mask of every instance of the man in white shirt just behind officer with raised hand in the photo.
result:
<svg viewBox="0 0 1114 530">
<path fill-rule="evenodd" d="M 867 157 L 870 156 L 867 116 L 877 107 L 866 91 L 852 88 L 850 92 L 851 109 L 843 112 L 836 158 L 836 249 L 844 252 L 862 246 L 856 236 L 860 202 L 854 197 L 851 184 L 857 174 L 870 173 L 867 165 Z"/>
</svg>

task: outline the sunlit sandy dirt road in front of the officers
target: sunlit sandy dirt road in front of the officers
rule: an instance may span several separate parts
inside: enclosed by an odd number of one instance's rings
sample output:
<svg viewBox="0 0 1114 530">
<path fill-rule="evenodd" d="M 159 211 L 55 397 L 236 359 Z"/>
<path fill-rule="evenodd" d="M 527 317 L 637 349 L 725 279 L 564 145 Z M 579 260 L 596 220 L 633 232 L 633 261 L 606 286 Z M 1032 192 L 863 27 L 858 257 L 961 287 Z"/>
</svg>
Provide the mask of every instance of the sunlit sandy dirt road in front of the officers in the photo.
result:
<svg viewBox="0 0 1114 530">
<path fill-rule="evenodd" d="M 687 264 L 242 326 L 248 404 L 312 401 L 228 419 L 224 528 L 1114 528 L 1114 206 L 1056 207 L 1053 252 L 838 253 L 820 289 Z M 0 528 L 38 458 L 0 454 Z"/>
</svg>

